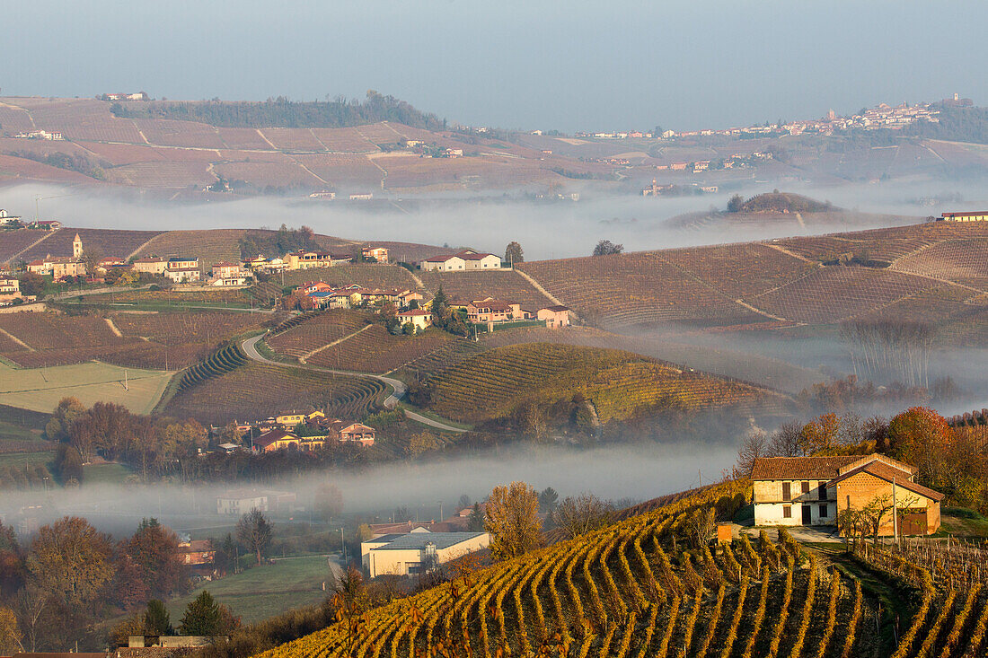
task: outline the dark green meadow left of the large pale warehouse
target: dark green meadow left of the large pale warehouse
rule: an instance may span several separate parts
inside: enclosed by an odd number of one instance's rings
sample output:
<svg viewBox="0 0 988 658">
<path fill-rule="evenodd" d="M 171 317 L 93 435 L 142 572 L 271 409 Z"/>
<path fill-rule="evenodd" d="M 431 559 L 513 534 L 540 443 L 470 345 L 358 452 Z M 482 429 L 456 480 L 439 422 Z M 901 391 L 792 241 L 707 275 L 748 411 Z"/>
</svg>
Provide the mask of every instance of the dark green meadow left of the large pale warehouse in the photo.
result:
<svg viewBox="0 0 988 658">
<path fill-rule="evenodd" d="M 208 590 L 245 623 L 319 603 L 326 596 L 322 582 L 329 577 L 325 557 L 296 557 L 247 569 L 233 576 L 204 583 L 189 596 L 169 602 L 172 622 L 182 619 L 186 605 Z"/>
</svg>

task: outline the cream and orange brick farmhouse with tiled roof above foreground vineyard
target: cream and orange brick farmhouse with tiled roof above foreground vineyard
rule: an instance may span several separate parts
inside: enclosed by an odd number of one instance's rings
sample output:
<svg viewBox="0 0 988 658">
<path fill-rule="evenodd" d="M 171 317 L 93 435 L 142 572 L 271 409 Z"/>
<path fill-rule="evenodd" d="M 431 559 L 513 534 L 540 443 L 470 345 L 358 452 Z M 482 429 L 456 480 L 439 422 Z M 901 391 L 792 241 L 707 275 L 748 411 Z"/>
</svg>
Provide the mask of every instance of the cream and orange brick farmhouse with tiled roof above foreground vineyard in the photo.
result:
<svg viewBox="0 0 988 658">
<path fill-rule="evenodd" d="M 756 526 L 836 526 L 844 510 L 862 510 L 894 497 L 906 535 L 932 535 L 940 528 L 943 494 L 913 481 L 915 469 L 882 454 L 761 457 L 755 460 Z M 844 532 L 845 529 L 842 529 Z M 891 535 L 892 515 L 879 534 Z"/>
</svg>

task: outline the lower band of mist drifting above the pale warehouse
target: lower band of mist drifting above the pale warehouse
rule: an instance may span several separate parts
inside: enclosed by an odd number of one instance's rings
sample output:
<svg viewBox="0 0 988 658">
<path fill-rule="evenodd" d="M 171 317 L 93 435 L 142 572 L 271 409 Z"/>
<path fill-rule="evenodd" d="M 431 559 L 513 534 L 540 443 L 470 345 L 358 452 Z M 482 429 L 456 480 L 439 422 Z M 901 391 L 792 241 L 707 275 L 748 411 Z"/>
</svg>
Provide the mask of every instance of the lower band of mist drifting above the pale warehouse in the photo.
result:
<svg viewBox="0 0 988 658">
<path fill-rule="evenodd" d="M 491 489 L 523 480 L 541 490 L 551 486 L 560 499 L 591 491 L 604 499 L 648 500 L 682 491 L 720 477 L 734 461 L 735 437 L 707 443 L 636 446 L 606 445 L 591 449 L 509 444 L 493 452 L 374 466 L 353 472 L 330 471 L 251 484 L 200 486 L 84 484 L 76 490 L 5 493 L 0 518 L 15 528 L 25 518 L 41 525 L 65 515 L 85 517 L 104 532 L 127 535 L 144 517 L 156 517 L 179 532 L 209 535 L 228 529 L 235 516 L 216 513 L 216 495 L 237 490 L 278 490 L 296 494 L 294 521 L 310 518 L 313 492 L 322 483 L 343 494 L 344 514 L 388 520 L 396 507 L 407 507 L 420 520 L 450 517 L 462 494 L 482 501 Z M 275 521 L 287 521 L 275 515 Z M 224 530 L 224 533 L 226 531 Z"/>
</svg>

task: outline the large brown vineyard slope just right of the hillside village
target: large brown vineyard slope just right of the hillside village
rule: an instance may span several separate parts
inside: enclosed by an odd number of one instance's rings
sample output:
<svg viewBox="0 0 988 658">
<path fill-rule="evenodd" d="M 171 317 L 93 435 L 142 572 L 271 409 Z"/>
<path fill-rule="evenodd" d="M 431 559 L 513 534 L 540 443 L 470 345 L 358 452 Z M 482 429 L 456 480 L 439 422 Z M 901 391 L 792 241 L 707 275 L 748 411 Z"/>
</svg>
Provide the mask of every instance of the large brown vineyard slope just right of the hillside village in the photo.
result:
<svg viewBox="0 0 988 658">
<path fill-rule="evenodd" d="M 670 265 L 661 252 L 538 261 L 516 267 L 567 306 L 608 325 L 677 321 L 734 325 L 766 319 Z"/>
</svg>

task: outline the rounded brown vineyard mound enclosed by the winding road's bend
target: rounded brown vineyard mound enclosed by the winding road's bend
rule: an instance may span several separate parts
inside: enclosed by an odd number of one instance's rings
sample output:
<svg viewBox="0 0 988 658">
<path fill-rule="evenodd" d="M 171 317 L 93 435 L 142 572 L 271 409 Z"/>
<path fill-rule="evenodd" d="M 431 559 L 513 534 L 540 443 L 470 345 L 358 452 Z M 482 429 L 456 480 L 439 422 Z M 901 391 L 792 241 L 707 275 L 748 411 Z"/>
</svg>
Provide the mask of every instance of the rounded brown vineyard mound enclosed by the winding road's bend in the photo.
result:
<svg viewBox="0 0 988 658">
<path fill-rule="evenodd" d="M 377 409 L 385 388 L 366 377 L 250 362 L 182 390 L 163 413 L 216 425 L 309 407 L 324 408 L 327 415 L 340 418 L 363 418 Z"/>
</svg>

